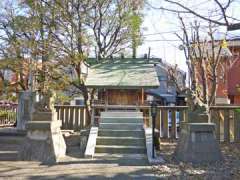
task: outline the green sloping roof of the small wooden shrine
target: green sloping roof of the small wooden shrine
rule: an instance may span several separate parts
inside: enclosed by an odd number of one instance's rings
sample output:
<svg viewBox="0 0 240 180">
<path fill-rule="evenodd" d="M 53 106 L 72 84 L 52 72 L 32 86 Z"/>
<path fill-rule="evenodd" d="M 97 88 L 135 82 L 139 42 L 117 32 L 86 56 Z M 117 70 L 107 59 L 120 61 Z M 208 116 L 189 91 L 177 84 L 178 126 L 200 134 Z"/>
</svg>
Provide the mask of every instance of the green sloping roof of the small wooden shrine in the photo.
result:
<svg viewBox="0 0 240 180">
<path fill-rule="evenodd" d="M 152 64 L 102 63 L 90 68 L 87 87 L 157 88 L 160 84 Z"/>
</svg>

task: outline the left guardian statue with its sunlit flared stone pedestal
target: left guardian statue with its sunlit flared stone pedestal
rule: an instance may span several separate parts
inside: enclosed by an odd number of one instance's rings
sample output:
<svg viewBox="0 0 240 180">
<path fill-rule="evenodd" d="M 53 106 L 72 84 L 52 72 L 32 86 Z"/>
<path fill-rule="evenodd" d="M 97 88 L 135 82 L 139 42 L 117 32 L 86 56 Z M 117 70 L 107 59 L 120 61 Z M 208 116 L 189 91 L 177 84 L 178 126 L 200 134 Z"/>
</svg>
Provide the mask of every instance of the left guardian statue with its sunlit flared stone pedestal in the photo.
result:
<svg viewBox="0 0 240 180">
<path fill-rule="evenodd" d="M 45 164 L 59 161 L 66 154 L 66 144 L 61 133 L 62 122 L 57 120 L 53 93 L 48 91 L 34 103 L 31 121 L 26 124 L 27 136 L 21 147 L 21 160 L 37 160 Z"/>
</svg>

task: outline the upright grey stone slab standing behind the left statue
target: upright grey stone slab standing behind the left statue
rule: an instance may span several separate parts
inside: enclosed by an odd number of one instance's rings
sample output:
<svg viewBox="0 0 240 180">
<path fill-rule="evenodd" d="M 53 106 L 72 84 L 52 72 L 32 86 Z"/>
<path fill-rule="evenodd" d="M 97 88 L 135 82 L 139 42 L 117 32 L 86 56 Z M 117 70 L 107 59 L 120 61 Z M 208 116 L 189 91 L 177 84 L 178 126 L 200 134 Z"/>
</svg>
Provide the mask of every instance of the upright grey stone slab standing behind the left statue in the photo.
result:
<svg viewBox="0 0 240 180">
<path fill-rule="evenodd" d="M 18 97 L 17 107 L 17 129 L 26 130 L 26 123 L 31 119 L 32 107 L 35 102 L 36 93 L 32 91 L 21 91 Z"/>
</svg>

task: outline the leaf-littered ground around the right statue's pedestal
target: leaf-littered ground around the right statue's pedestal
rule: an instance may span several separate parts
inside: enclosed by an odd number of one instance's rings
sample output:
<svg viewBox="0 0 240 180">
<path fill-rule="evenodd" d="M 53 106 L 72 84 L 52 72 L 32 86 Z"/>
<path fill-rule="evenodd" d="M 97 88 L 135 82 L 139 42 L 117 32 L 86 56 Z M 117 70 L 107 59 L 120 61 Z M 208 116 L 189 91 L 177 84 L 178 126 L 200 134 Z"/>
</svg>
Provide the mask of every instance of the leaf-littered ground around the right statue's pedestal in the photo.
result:
<svg viewBox="0 0 240 180">
<path fill-rule="evenodd" d="M 240 180 L 240 143 L 222 143 L 224 160 L 214 164 L 193 165 L 176 162 L 173 152 L 176 142 L 161 142 L 160 155 L 166 163 L 153 166 L 162 179 Z"/>
</svg>

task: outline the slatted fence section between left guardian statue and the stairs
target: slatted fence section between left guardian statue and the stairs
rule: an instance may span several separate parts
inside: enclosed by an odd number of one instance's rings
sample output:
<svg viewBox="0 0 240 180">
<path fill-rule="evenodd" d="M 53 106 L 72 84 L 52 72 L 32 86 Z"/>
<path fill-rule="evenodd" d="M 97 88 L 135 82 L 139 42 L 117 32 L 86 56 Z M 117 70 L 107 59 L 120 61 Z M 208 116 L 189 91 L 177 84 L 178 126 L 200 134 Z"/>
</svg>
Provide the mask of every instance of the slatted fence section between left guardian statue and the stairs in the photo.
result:
<svg viewBox="0 0 240 180">
<path fill-rule="evenodd" d="M 90 125 L 85 106 L 56 105 L 57 118 L 62 121 L 62 129 L 79 131 Z"/>
</svg>

